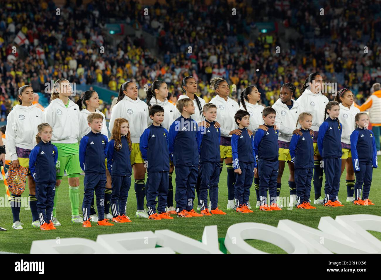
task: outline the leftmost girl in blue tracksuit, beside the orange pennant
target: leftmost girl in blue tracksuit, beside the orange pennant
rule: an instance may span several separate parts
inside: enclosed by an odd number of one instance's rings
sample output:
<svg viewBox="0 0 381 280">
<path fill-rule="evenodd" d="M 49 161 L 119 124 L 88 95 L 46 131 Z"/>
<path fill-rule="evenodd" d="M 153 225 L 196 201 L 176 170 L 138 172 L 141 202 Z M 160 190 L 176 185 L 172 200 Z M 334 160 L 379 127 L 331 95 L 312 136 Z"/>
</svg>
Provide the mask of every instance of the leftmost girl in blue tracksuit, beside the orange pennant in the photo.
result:
<svg viewBox="0 0 381 280">
<path fill-rule="evenodd" d="M 29 154 L 29 169 L 36 182 L 37 211 L 41 230 L 56 229 L 53 219 L 54 195 L 56 193 L 57 147 L 51 144 L 52 129 L 48 123 L 37 126 L 37 145 Z"/>
</svg>

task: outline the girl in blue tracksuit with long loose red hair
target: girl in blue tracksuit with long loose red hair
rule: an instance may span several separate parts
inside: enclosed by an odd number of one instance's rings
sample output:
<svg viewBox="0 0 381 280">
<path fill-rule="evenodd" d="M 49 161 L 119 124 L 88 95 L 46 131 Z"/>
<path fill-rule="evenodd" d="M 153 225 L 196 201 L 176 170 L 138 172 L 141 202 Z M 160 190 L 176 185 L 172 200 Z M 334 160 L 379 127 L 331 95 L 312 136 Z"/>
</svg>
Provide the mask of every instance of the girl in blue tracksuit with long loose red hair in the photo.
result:
<svg viewBox="0 0 381 280">
<path fill-rule="evenodd" d="M 131 187 L 130 125 L 125 118 L 115 119 L 107 144 L 107 169 L 111 174 L 111 213 L 114 222 L 131 222 L 126 216 L 128 191 Z"/>
</svg>

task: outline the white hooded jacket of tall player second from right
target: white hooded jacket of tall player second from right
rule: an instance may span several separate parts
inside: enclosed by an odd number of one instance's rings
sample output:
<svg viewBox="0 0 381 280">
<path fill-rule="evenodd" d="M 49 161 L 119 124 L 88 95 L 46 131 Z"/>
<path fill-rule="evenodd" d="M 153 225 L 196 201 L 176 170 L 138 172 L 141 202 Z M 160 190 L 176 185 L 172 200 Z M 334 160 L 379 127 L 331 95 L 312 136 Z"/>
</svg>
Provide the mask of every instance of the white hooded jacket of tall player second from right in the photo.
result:
<svg viewBox="0 0 381 280">
<path fill-rule="evenodd" d="M 313 131 L 319 131 L 320 125 L 324 122 L 324 110 L 327 105 L 328 98 L 322 93 L 312 93 L 308 88 L 297 99 L 300 106 L 304 108 L 304 112 L 312 115 Z"/>
</svg>

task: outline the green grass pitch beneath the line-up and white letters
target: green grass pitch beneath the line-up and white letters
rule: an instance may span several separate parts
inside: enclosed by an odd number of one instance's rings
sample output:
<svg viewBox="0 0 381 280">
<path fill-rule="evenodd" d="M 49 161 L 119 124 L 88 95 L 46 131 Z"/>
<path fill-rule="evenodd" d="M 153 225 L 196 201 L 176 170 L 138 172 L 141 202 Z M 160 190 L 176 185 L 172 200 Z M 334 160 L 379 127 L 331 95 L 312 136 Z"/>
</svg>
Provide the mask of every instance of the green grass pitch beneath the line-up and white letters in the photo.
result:
<svg viewBox="0 0 381 280">
<path fill-rule="evenodd" d="M 186 235 L 188 237 L 194 238 L 195 240 L 201 240 L 204 226 L 217 225 L 218 226 L 218 237 L 225 237 L 226 230 L 232 224 L 238 222 L 260 222 L 264 224 L 269 224 L 271 226 L 277 226 L 278 221 L 281 219 L 290 219 L 292 221 L 299 222 L 306 226 L 313 227 L 317 229 L 317 226 L 322 216 L 331 216 L 335 218 L 337 215 L 348 215 L 348 214 L 375 214 L 380 215 L 381 213 L 381 170 L 373 170 L 373 182 L 370 190 L 370 198 L 375 203 L 372 206 L 355 206 L 351 203 L 346 203 L 346 186 L 345 186 L 345 171 L 341 177 L 339 198 L 345 205 L 345 207 L 335 207 L 328 208 L 324 206 L 317 206 L 315 210 L 300 210 L 294 208 L 293 210 L 282 210 L 282 211 L 259 211 L 256 209 L 254 213 L 235 213 L 234 211 L 226 211 L 227 215 L 213 215 L 210 217 L 199 217 L 199 218 L 189 218 L 181 219 L 174 217 L 173 220 L 160 220 L 152 221 L 149 219 L 136 218 L 134 216 L 136 212 L 136 198 L 134 194 L 134 183 L 131 184 L 131 189 L 128 196 L 127 202 L 127 215 L 132 219 L 131 223 L 116 224 L 113 227 L 98 227 L 95 223 L 92 223 L 93 227 L 83 228 L 82 224 L 73 224 L 71 219 L 71 209 L 69 201 L 69 186 L 67 183 L 67 178 L 64 177 L 61 187 L 59 188 L 58 206 L 57 206 L 57 218 L 61 222 L 62 226 L 57 227 L 57 230 L 42 231 L 38 228 L 31 226 L 32 216 L 30 210 L 26 211 L 21 208 L 20 218 L 21 222 L 24 223 L 23 230 L 13 230 L 12 229 L 12 213 L 9 207 L 0 207 L 0 226 L 8 229 L 6 232 L 0 232 L 0 251 L 14 252 L 14 253 L 29 253 L 30 246 L 33 240 L 41 239 L 55 239 L 56 237 L 67 238 L 67 237 L 82 237 L 91 240 L 96 240 L 98 234 L 111 234 L 119 232 L 136 232 L 143 230 L 158 230 L 158 229 L 170 229 L 174 232 Z M 288 191 L 288 168 L 285 167 L 283 173 L 283 184 L 281 196 L 289 195 Z M 83 177 L 80 176 L 80 189 L 83 190 Z M 174 186 L 173 173 L 173 186 Z M 132 180 L 133 182 L 133 180 Z M 3 184 L 2 182 L 0 184 Z M 323 182 L 324 186 L 324 182 Z M 322 193 L 324 188 L 322 189 Z M 23 196 L 27 196 L 28 191 L 26 190 Z M 5 188 L 0 187 L 0 196 L 6 197 Z M 311 198 L 313 199 L 314 190 L 312 186 Z M 80 201 L 82 203 L 83 192 L 80 194 Z M 2 198 L 3 200 L 3 198 Z M 255 190 L 251 187 L 250 202 L 252 206 L 255 206 Z M 196 200 L 195 200 L 196 201 Z M 224 165 L 224 170 L 221 173 L 219 182 L 219 208 L 226 210 L 227 204 L 227 187 L 226 187 L 226 166 Z M 195 206 L 196 207 L 196 206 Z M 377 238 L 381 240 L 381 233 L 371 232 Z M 258 248 L 259 250 L 268 253 L 285 253 L 279 247 L 272 245 L 267 242 L 260 240 L 247 240 L 247 242 Z"/>
</svg>

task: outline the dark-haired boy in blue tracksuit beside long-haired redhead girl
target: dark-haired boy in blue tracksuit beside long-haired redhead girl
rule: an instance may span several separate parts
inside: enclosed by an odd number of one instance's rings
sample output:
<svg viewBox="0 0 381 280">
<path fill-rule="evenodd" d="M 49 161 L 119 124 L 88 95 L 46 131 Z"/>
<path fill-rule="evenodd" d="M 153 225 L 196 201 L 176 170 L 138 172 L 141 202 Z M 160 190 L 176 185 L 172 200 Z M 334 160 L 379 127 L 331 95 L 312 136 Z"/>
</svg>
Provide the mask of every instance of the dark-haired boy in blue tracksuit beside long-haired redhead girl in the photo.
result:
<svg viewBox="0 0 381 280">
<path fill-rule="evenodd" d="M 162 126 L 164 109 L 154 105 L 149 109 L 153 123 L 140 136 L 140 151 L 147 166 L 146 198 L 148 219 L 173 219 L 165 211 L 168 195 L 169 152 L 167 146 L 168 131 Z M 156 197 L 158 200 L 156 213 Z"/>
</svg>

